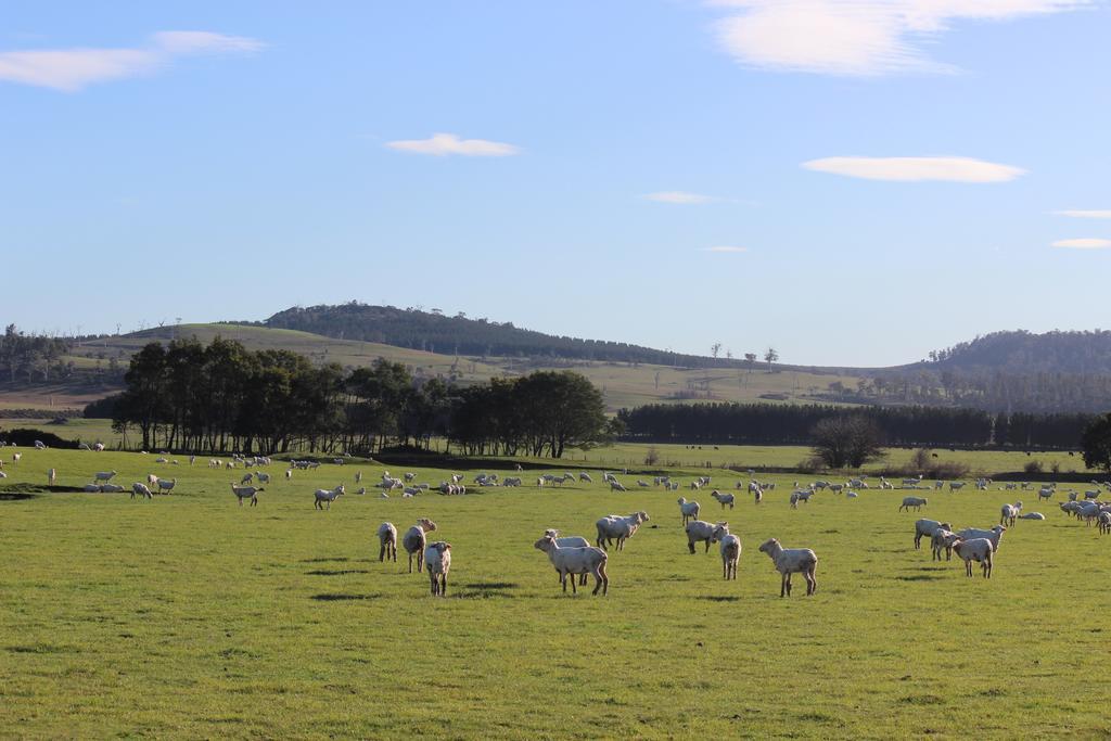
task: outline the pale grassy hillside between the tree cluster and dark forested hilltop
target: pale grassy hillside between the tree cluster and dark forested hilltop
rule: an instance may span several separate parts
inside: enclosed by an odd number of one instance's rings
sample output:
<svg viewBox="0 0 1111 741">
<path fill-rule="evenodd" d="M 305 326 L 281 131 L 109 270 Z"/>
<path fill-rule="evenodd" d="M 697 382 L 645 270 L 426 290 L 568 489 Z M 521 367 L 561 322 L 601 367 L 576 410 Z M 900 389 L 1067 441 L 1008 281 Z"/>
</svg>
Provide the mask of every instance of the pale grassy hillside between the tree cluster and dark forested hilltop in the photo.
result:
<svg viewBox="0 0 1111 741">
<path fill-rule="evenodd" d="M 237 340 L 251 350 L 287 349 L 302 353 L 313 362 L 338 362 L 346 367 L 369 366 L 379 358 L 401 362 L 418 375 L 454 378 L 460 383 L 471 383 L 500 375 L 520 375 L 541 369 L 570 369 L 578 371 L 603 390 L 611 411 L 621 407 L 659 401 L 721 400 L 768 401 L 770 403 L 800 403 L 824 392 L 830 383 L 847 387 L 859 380 L 855 375 L 814 373 L 802 370 L 778 370 L 768 373 L 762 369 L 741 368 L 681 368 L 651 363 L 561 360 L 553 358 L 504 358 L 480 356 L 449 356 L 423 350 L 412 350 L 391 344 L 343 340 L 298 330 L 270 329 L 244 324 L 181 324 L 161 327 L 119 337 L 100 338 L 77 344 L 68 358 L 78 368 L 107 368 L 116 363 L 126 368 L 130 357 L 152 341 L 168 342 L 179 337 L 196 337 L 208 342 L 214 337 Z M 119 370 L 116 371 L 117 374 Z M 0 393 L 3 408 L 80 407 L 92 399 L 119 390 L 118 384 L 99 388 L 67 389 L 53 384 L 49 392 L 36 393 L 28 388 L 19 394 L 18 403 Z M 10 401 L 10 403 L 9 403 Z"/>
</svg>

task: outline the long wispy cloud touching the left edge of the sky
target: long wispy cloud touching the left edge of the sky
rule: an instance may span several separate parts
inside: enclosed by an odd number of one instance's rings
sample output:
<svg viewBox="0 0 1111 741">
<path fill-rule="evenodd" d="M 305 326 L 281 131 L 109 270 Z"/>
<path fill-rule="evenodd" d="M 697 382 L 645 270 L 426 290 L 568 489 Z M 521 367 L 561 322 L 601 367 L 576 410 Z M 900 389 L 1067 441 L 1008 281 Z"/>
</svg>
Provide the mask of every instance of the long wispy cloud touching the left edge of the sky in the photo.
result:
<svg viewBox="0 0 1111 741">
<path fill-rule="evenodd" d="M 209 31 L 161 31 L 142 47 L 72 48 L 0 52 L 0 80 L 62 92 L 96 82 L 149 74 L 177 57 L 250 53 L 261 41 Z"/>
</svg>

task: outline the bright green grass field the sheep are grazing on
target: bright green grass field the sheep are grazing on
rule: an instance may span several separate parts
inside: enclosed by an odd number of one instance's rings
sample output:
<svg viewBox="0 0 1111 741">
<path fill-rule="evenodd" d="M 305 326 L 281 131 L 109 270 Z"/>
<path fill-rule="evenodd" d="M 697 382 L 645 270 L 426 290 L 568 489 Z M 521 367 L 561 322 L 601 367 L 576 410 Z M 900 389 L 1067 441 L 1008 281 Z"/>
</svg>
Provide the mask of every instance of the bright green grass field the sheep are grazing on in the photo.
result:
<svg viewBox="0 0 1111 741">
<path fill-rule="evenodd" d="M 793 477 L 774 477 L 761 505 L 739 497 L 724 513 L 695 492 L 702 517 L 724 514 L 743 542 L 739 579 L 725 583 L 715 550 L 687 553 L 677 492 L 349 493 L 319 512 L 316 488 L 342 481 L 352 492 L 357 470 L 367 483 L 381 468 L 328 464 L 286 482 L 276 464 L 252 509 L 229 490 L 239 471 L 22 452 L 13 464 L 3 451 L 0 483 L 46 483 L 53 467 L 68 485 L 114 469 L 124 484 L 156 472 L 178 488 L 153 501 L 0 501 L 4 735 L 1111 733 L 1099 701 L 1111 538 L 1043 503 L 1047 521 L 1007 533 L 990 581 L 912 550 L 918 517 L 987 527 L 1014 492 L 930 493 L 921 515 L 897 511 L 901 492 L 874 490 L 791 510 Z M 418 472 L 432 483 L 446 475 Z M 592 539 L 598 517 L 639 509 L 652 519 L 610 554 L 609 595 L 560 593 L 532 547 L 543 529 Z M 377 560 L 378 524 L 404 530 L 418 517 L 452 543 L 447 599 L 406 573 L 403 553 L 398 564 Z M 757 551 L 769 537 L 817 551 L 814 598 L 779 598 Z"/>
</svg>

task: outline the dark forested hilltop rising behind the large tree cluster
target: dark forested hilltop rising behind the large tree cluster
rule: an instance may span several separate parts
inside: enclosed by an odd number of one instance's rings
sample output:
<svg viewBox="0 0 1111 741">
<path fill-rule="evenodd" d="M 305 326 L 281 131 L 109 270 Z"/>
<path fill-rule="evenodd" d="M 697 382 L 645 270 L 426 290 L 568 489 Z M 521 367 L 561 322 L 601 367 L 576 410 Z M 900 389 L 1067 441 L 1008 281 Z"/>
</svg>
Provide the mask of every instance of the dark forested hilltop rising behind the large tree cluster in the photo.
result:
<svg viewBox="0 0 1111 741">
<path fill-rule="evenodd" d="M 343 340 L 363 340 L 448 356 L 500 358 L 550 357 L 563 360 L 681 366 L 683 368 L 741 368 L 743 360 L 688 356 L 627 342 L 557 337 L 514 327 L 512 322 L 448 317 L 434 311 L 372 307 L 366 303 L 287 309 L 270 317 L 264 327 L 294 329 Z"/>
</svg>

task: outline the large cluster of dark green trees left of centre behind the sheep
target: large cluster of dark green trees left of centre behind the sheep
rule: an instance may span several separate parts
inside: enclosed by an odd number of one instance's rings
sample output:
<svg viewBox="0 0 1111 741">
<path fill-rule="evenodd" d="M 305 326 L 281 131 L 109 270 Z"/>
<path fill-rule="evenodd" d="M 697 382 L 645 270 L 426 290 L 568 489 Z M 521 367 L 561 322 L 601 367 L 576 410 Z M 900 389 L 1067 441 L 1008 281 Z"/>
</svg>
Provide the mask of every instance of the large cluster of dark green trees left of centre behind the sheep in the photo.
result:
<svg viewBox="0 0 1111 741">
<path fill-rule="evenodd" d="M 248 351 L 220 338 L 136 353 L 127 389 L 91 404 L 144 450 L 373 453 L 444 437 L 472 452 L 527 450 L 559 458 L 611 430 L 601 393 L 582 375 L 538 372 L 466 389 L 414 379 L 400 363 L 313 366 L 288 350 Z"/>
</svg>

